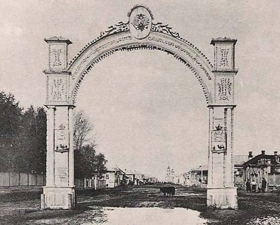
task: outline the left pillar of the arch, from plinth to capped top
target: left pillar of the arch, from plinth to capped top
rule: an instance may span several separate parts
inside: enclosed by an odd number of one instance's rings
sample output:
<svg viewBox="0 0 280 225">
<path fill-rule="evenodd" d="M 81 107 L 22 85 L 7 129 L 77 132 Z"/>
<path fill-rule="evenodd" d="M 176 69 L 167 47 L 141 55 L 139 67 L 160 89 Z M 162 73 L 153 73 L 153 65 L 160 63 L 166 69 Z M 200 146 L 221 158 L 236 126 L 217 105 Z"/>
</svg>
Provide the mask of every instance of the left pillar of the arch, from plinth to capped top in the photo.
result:
<svg viewBox="0 0 280 225">
<path fill-rule="evenodd" d="M 73 109 L 69 104 L 68 45 L 62 37 L 45 40 L 49 45 L 47 85 L 47 174 L 41 196 L 42 209 L 75 206 Z"/>
</svg>

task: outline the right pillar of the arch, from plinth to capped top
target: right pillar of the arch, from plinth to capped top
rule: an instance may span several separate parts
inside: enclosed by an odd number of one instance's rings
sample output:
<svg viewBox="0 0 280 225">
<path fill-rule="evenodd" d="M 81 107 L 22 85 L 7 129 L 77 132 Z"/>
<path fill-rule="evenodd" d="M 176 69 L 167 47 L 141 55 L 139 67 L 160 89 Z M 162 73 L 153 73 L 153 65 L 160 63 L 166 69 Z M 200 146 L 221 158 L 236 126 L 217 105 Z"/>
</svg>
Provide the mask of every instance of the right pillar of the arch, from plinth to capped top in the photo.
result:
<svg viewBox="0 0 280 225">
<path fill-rule="evenodd" d="M 209 108 L 207 206 L 237 209 L 234 186 L 234 47 L 236 40 L 213 39 L 214 94 Z"/>
</svg>

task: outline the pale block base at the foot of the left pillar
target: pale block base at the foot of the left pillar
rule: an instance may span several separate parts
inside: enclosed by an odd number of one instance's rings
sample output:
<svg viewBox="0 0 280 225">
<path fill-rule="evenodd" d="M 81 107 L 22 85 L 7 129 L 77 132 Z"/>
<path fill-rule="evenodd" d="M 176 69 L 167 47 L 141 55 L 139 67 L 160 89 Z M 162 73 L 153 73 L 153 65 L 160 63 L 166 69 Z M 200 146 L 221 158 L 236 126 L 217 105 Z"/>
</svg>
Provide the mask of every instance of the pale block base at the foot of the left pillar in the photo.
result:
<svg viewBox="0 0 280 225">
<path fill-rule="evenodd" d="M 74 187 L 43 187 L 41 209 L 73 209 L 75 207 Z"/>
</svg>

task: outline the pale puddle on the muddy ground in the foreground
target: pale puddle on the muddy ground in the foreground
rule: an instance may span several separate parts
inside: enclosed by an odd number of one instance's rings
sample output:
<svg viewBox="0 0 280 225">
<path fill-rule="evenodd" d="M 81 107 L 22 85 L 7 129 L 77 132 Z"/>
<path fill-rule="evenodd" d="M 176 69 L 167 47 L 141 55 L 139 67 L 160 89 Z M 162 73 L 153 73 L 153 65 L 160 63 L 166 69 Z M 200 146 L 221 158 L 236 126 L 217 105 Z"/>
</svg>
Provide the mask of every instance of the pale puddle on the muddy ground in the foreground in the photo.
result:
<svg viewBox="0 0 280 225">
<path fill-rule="evenodd" d="M 92 207 L 67 218 L 29 220 L 28 224 L 82 225 L 202 225 L 207 220 L 199 212 L 185 208 L 116 208 Z"/>
</svg>

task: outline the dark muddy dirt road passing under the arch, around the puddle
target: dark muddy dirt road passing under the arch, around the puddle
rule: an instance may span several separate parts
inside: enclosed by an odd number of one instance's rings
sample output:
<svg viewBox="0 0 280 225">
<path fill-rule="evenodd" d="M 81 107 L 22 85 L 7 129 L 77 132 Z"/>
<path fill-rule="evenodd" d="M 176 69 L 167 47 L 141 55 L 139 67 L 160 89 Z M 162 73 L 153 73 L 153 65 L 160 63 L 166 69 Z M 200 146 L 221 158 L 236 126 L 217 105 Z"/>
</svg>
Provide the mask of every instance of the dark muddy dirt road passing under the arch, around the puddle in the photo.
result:
<svg viewBox="0 0 280 225">
<path fill-rule="evenodd" d="M 1 224 L 113 224 L 106 220 L 114 209 L 107 207 L 126 207 L 129 208 L 153 208 L 167 209 L 170 211 L 169 217 L 175 215 L 174 209 L 192 209 L 200 212 L 200 217 L 208 219 L 207 223 L 197 224 L 280 224 L 280 193 L 255 193 L 247 194 L 238 192 L 239 210 L 217 210 L 207 209 L 206 190 L 191 187 L 176 186 L 175 197 L 165 197 L 159 191 L 160 186 L 144 185 L 118 187 L 97 192 L 87 192 L 78 194 L 78 207 L 75 210 L 45 210 L 39 211 L 40 196 L 34 196 L 27 200 L 24 196 L 11 199 L 1 199 L 0 211 L 4 208 L 32 206 L 34 212 L 24 215 L 1 216 Z M 132 217 L 133 210 L 127 212 L 125 218 Z M 138 210 L 139 211 L 139 210 Z M 115 210 L 117 212 L 117 210 Z M 139 211 L 139 213 L 150 214 L 161 211 Z M 180 210 L 178 213 L 182 213 Z M 194 211 L 195 213 L 195 211 Z M 139 216 L 135 215 L 135 216 Z M 199 214 L 199 213 L 198 213 Z M 184 213 L 182 214 L 184 215 Z M 181 215 L 181 216 L 182 216 Z M 168 217 L 168 218 L 169 218 Z M 178 217 L 178 216 L 177 216 Z M 196 215 L 198 217 L 198 215 Z M 105 220 L 104 220 L 105 219 Z M 167 220 L 165 220 L 167 222 Z M 201 221 L 200 221 L 201 222 Z M 123 223 L 125 224 L 125 223 Z M 122 225 L 123 225 L 122 224 Z M 129 224 L 129 223 L 128 223 Z M 133 223 L 137 224 L 137 223 Z M 141 224 L 141 223 L 140 223 Z M 148 221 L 142 224 L 149 224 Z M 155 223 L 151 223 L 155 224 Z M 173 224 L 160 222 L 159 224 Z M 175 223 L 180 224 L 180 223 Z M 188 223 L 182 223 L 188 224 Z M 191 224 L 191 223 L 190 223 Z M 193 225 L 193 224 L 191 224 Z"/>
</svg>

